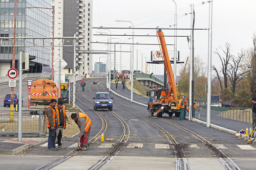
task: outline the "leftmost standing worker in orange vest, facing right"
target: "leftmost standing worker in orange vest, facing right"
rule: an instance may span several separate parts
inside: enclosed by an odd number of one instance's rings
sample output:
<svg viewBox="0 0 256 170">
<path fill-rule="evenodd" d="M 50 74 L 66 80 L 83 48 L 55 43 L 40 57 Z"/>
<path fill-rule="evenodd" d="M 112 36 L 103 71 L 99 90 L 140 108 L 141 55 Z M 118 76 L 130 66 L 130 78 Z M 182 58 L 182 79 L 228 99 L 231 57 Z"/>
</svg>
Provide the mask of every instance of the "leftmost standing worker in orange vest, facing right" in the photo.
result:
<svg viewBox="0 0 256 170">
<path fill-rule="evenodd" d="M 51 99 L 50 105 L 46 109 L 46 122 L 47 128 L 49 130 L 48 136 L 48 151 L 56 151 L 55 139 L 56 139 L 56 130 L 58 123 L 58 115 L 55 110 L 56 99 Z"/>
</svg>

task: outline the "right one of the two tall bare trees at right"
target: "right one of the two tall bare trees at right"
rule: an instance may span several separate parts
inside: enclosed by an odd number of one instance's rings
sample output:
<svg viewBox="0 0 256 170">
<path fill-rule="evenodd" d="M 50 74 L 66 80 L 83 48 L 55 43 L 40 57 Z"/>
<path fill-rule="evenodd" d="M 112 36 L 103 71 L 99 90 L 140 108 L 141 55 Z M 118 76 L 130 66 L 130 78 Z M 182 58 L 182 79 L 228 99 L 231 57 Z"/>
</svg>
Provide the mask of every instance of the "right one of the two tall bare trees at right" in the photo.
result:
<svg viewBox="0 0 256 170">
<path fill-rule="evenodd" d="M 236 92 L 236 87 L 239 81 L 243 79 L 243 76 L 246 75 L 247 71 L 243 71 L 241 69 L 242 67 L 242 61 L 245 57 L 245 52 L 241 50 L 241 53 L 238 53 L 238 57 L 232 57 L 232 64 L 229 64 L 228 69 L 228 79 L 231 83 L 231 92 L 234 94 Z"/>
</svg>

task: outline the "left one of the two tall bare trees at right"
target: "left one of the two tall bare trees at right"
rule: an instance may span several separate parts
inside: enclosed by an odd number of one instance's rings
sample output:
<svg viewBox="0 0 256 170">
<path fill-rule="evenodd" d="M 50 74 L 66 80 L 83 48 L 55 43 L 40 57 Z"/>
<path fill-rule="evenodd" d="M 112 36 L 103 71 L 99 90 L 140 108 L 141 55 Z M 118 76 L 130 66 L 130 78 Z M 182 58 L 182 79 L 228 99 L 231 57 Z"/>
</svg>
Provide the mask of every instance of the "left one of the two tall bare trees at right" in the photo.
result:
<svg viewBox="0 0 256 170">
<path fill-rule="evenodd" d="M 227 88 L 227 82 L 228 82 L 228 66 L 229 66 L 229 61 L 231 59 L 231 57 L 233 57 L 233 55 L 230 54 L 230 44 L 228 42 L 226 42 L 225 44 L 225 49 L 223 49 L 222 47 L 220 47 L 222 52 L 225 54 L 224 57 L 221 56 L 221 54 L 218 52 L 218 49 L 216 48 L 216 52 L 214 52 L 215 54 L 217 54 L 219 56 L 219 58 L 221 59 L 221 64 L 222 64 L 222 74 L 223 74 L 223 78 L 224 78 L 224 88 Z"/>
</svg>

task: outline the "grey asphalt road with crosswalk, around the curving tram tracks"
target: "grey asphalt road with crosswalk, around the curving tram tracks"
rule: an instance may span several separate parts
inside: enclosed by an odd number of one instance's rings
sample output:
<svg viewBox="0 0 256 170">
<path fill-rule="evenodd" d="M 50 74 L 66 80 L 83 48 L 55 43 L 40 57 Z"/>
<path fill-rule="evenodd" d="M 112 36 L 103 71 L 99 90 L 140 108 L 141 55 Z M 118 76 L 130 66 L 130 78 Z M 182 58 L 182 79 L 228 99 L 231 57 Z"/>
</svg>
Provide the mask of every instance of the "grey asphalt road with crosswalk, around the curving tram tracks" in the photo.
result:
<svg viewBox="0 0 256 170">
<path fill-rule="evenodd" d="M 87 85 L 83 94 L 86 95 L 89 100 L 83 98 L 83 96 L 77 91 L 77 89 L 80 87 L 76 86 L 77 98 L 81 99 L 82 102 L 90 106 L 84 106 L 81 102 L 76 100 L 76 105 L 92 119 L 90 138 L 96 135 L 102 126 L 101 119 L 92 109 L 92 98 L 94 95 L 89 91 L 89 85 L 95 80 L 98 81 L 98 85 L 90 86 L 93 93 L 98 91 L 108 92 L 104 82 L 100 83 L 101 80 L 105 80 L 101 78 L 85 80 Z M 77 84 L 79 85 L 80 81 L 78 81 Z M 112 86 L 114 87 L 114 84 L 112 84 Z M 131 91 L 127 89 L 118 90 L 119 94 L 126 97 L 131 94 Z M 170 141 L 166 138 L 164 133 L 139 116 L 157 123 L 178 139 L 186 154 L 186 157 L 188 158 L 190 169 L 225 169 L 214 153 L 212 153 L 206 147 L 206 145 L 195 137 L 164 122 L 160 118 L 148 117 L 145 106 L 131 103 L 113 93 L 111 93 L 111 95 L 114 97 L 113 112 L 125 120 L 130 129 L 130 135 L 124 147 L 103 169 L 175 169 L 175 153 Z M 141 103 L 146 103 L 147 101 L 146 98 L 137 94 L 134 94 L 134 100 Z M 129 106 L 136 108 L 137 110 Z M 139 116 L 136 116 L 127 110 L 132 111 Z M 99 112 L 108 120 L 108 130 L 104 136 L 105 138 L 114 138 L 114 142 L 101 142 L 100 140 L 96 141 L 94 144 L 90 145 L 87 151 L 81 152 L 79 155 L 72 157 L 53 169 L 87 169 L 110 150 L 110 148 L 104 147 L 105 145 L 119 141 L 123 132 L 123 128 L 119 120 L 104 109 L 99 109 Z M 189 122 L 188 120 L 179 121 L 178 118 L 169 117 L 167 114 L 163 114 L 163 119 L 185 127 L 188 130 L 195 132 L 207 139 L 212 144 L 215 144 L 217 148 L 221 148 L 220 150 L 230 159 L 232 159 L 232 161 L 241 169 L 254 169 L 253 164 L 256 160 L 256 147 L 252 144 L 247 144 L 245 141 L 241 139 L 239 140 L 237 137 L 234 137 L 231 134 L 212 128 L 207 128 L 206 126 L 195 122 Z M 230 123 L 235 124 L 233 122 Z M 221 122 L 221 120 L 219 120 L 219 124 L 220 126 L 221 124 L 224 126 L 225 124 L 229 124 L 229 121 L 228 119 L 226 122 Z M 74 132 L 74 135 L 75 133 L 76 132 Z M 78 137 L 76 135 L 72 138 L 63 138 L 62 141 L 63 145 L 68 147 L 66 150 L 47 151 L 47 148 L 41 145 L 44 143 L 41 143 L 27 150 L 25 153 L 19 154 L 18 156 L 0 155 L 1 160 L 6 160 L 1 161 L 0 166 L 6 169 L 17 169 L 17 167 L 19 169 L 38 168 L 41 165 L 74 150 L 74 147 L 69 148 L 69 146 L 75 144 L 75 142 L 78 141 Z M 241 149 L 240 145 L 250 146 L 251 149 Z M 11 161 L 16 159 L 18 159 L 17 162 Z"/>
</svg>

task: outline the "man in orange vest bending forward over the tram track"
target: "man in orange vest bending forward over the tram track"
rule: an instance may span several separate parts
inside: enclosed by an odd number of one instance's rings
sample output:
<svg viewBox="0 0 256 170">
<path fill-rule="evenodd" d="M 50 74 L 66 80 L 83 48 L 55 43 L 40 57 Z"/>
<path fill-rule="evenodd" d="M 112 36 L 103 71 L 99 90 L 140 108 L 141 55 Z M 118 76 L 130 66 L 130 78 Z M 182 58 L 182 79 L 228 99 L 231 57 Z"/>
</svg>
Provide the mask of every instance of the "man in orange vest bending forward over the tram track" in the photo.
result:
<svg viewBox="0 0 256 170">
<path fill-rule="evenodd" d="M 78 128 L 80 129 L 80 150 L 84 151 L 88 148 L 88 138 L 91 130 L 92 120 L 88 115 L 80 112 L 72 113 L 71 118 L 75 121 Z"/>
</svg>

